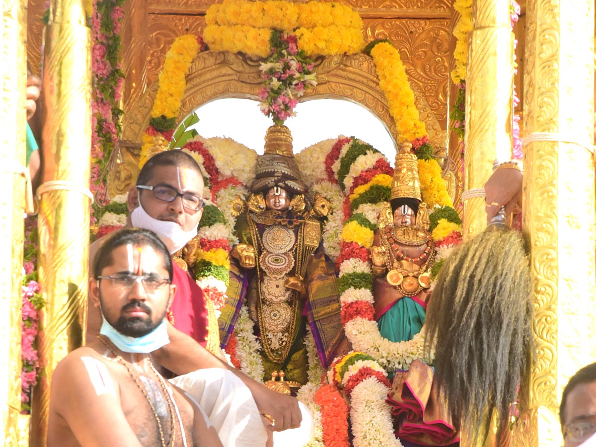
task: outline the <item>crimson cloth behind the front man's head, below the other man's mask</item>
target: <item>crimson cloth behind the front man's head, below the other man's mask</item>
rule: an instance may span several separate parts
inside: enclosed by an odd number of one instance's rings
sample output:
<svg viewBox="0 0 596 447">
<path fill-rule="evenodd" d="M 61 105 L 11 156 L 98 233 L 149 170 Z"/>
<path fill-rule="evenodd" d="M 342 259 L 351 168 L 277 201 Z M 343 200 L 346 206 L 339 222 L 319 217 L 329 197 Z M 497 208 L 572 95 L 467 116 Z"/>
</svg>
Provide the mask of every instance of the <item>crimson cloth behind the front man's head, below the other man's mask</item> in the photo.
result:
<svg viewBox="0 0 596 447">
<path fill-rule="evenodd" d="M 207 345 L 207 308 L 203 290 L 190 274 L 173 263 L 176 294 L 170 306 L 174 316 L 174 327 L 197 340 L 201 346 Z"/>
</svg>

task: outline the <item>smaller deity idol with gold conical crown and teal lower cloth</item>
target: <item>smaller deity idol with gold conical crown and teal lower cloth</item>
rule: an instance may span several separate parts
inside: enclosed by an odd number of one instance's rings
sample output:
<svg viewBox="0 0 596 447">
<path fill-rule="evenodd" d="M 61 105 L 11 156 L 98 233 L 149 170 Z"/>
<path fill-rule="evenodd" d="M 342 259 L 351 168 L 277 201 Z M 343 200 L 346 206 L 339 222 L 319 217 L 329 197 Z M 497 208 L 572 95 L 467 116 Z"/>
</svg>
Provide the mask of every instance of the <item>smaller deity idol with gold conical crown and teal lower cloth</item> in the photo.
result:
<svg viewBox="0 0 596 447">
<path fill-rule="evenodd" d="M 381 209 L 371 252 L 375 319 L 392 342 L 411 340 L 424 324 L 435 256 L 429 226 L 417 159 L 404 144 L 395 157 L 390 203 Z"/>
</svg>

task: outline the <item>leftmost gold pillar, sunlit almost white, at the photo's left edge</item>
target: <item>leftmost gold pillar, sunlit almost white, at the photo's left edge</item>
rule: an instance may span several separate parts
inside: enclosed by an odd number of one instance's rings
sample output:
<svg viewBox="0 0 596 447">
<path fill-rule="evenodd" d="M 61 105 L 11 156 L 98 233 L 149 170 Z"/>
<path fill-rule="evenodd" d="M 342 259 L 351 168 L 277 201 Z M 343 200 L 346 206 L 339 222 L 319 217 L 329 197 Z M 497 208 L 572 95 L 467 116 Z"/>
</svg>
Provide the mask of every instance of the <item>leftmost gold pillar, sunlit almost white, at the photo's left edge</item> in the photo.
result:
<svg viewBox="0 0 596 447">
<path fill-rule="evenodd" d="M 5 446 L 17 446 L 21 412 L 21 307 L 25 167 L 26 0 L 2 1 L 0 150 L 0 403 Z"/>
</svg>

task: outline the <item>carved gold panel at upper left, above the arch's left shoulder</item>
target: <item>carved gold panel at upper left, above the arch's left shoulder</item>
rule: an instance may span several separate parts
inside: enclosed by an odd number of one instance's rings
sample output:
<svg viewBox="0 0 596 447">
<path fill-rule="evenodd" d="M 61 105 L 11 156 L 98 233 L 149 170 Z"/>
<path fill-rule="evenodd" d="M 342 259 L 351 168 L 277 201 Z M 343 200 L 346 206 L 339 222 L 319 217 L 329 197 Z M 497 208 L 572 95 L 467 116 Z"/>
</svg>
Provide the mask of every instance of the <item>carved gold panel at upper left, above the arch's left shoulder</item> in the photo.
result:
<svg viewBox="0 0 596 447">
<path fill-rule="evenodd" d="M 147 54 L 147 85 L 156 82 L 162 71 L 166 52 L 178 36 L 201 35 L 205 18 L 198 15 L 149 14 Z"/>
</svg>

